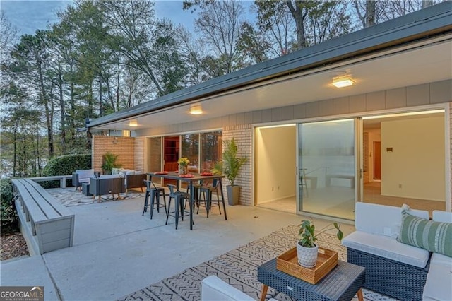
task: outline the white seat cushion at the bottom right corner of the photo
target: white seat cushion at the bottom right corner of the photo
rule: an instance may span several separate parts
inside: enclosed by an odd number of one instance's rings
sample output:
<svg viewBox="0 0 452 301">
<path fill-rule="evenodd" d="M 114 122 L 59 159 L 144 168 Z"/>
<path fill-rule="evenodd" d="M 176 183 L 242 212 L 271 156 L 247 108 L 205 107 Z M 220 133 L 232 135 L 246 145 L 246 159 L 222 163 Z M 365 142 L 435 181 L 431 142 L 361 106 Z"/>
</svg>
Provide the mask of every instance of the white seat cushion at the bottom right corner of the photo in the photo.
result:
<svg viewBox="0 0 452 301">
<path fill-rule="evenodd" d="M 452 300 L 452 258 L 434 253 L 422 293 L 422 300 Z"/>
</svg>

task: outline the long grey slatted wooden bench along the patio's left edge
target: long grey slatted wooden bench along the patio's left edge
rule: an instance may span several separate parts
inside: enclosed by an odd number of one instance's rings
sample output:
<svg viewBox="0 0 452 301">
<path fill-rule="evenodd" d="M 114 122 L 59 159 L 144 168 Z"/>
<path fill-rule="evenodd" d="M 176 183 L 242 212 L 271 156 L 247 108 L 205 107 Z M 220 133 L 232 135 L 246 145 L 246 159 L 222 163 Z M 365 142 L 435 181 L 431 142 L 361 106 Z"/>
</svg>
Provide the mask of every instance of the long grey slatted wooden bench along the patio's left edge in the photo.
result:
<svg viewBox="0 0 452 301">
<path fill-rule="evenodd" d="M 13 179 L 20 230 L 30 252 L 72 247 L 74 214 L 31 179 Z"/>
</svg>

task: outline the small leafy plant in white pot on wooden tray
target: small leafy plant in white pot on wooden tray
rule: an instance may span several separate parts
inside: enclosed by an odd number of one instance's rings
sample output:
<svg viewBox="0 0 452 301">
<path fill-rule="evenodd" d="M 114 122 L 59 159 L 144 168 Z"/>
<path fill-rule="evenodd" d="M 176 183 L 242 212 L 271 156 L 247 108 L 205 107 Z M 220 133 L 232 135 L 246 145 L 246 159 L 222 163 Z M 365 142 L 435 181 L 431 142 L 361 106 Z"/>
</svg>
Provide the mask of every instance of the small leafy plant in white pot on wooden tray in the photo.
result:
<svg viewBox="0 0 452 301">
<path fill-rule="evenodd" d="M 333 227 L 327 225 L 318 233 L 314 233 L 316 227 L 311 220 L 302 220 L 302 223 L 298 226 L 299 240 L 297 242 L 297 258 L 299 265 L 304 266 L 305 268 L 314 268 L 314 266 L 316 266 L 319 246 L 315 242 L 318 235 L 325 231 L 336 229 L 338 230 L 336 236 L 339 241 L 344 237 L 344 233 L 340 230 L 340 224 L 338 223 L 333 223 Z"/>
</svg>

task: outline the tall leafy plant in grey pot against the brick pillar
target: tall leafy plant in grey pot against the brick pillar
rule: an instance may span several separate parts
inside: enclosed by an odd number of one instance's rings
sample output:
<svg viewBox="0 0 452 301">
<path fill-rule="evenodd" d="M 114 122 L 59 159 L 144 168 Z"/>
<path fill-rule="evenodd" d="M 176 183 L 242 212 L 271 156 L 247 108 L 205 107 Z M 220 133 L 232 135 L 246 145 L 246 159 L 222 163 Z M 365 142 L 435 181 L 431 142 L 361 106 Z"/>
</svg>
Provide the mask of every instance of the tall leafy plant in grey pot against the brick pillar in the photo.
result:
<svg viewBox="0 0 452 301">
<path fill-rule="evenodd" d="M 238 148 L 234 138 L 230 141 L 223 141 L 223 158 L 220 162 L 215 163 L 212 172 L 216 175 L 224 174 L 230 185 L 226 186 L 227 202 L 230 205 L 237 205 L 239 203 L 240 187 L 235 184 L 235 179 L 239 175 L 239 170 L 246 158 L 237 155 Z"/>
</svg>

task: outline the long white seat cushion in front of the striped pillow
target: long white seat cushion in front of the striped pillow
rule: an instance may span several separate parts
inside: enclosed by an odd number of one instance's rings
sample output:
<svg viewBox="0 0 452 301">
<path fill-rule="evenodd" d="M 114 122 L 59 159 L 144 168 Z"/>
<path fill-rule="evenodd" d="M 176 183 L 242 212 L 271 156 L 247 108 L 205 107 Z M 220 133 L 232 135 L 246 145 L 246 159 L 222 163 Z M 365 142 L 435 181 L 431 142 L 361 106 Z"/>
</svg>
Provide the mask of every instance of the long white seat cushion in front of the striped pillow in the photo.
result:
<svg viewBox="0 0 452 301">
<path fill-rule="evenodd" d="M 342 240 L 343 246 L 357 249 L 384 258 L 410 264 L 424 268 L 429 260 L 429 252 L 426 249 L 420 249 L 402 244 L 396 239 L 384 235 L 376 235 L 363 231 L 355 231 L 347 235 Z"/>
</svg>

